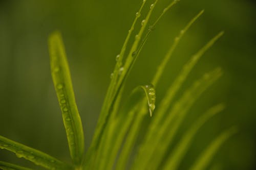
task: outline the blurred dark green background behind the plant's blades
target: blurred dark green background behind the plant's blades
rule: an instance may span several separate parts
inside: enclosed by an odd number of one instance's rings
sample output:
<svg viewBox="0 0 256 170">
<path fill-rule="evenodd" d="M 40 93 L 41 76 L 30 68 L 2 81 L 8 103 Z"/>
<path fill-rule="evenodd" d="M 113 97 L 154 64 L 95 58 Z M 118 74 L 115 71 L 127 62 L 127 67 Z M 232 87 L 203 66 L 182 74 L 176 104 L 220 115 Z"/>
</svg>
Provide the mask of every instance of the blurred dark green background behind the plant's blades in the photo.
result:
<svg viewBox="0 0 256 170">
<path fill-rule="evenodd" d="M 152 2 L 148 0 L 146 10 Z M 159 1 L 150 23 L 169 2 Z M 48 35 L 58 29 L 65 41 L 88 148 L 115 56 L 141 3 L 142 0 L 0 0 L 0 135 L 69 161 L 47 45 Z M 226 110 L 200 130 L 180 169 L 189 167 L 207 143 L 233 125 L 239 127 L 239 133 L 223 145 L 212 164 L 221 169 L 256 169 L 255 1 L 182 0 L 148 38 L 124 95 L 151 81 L 174 37 L 201 9 L 205 13 L 184 36 L 168 63 L 157 88 L 157 99 L 161 99 L 189 57 L 224 30 L 225 35 L 199 61 L 179 94 L 205 71 L 221 66 L 224 75 L 191 109 L 182 130 L 214 104 L 223 102 Z M 0 160 L 34 167 L 4 150 L 0 151 Z"/>
</svg>

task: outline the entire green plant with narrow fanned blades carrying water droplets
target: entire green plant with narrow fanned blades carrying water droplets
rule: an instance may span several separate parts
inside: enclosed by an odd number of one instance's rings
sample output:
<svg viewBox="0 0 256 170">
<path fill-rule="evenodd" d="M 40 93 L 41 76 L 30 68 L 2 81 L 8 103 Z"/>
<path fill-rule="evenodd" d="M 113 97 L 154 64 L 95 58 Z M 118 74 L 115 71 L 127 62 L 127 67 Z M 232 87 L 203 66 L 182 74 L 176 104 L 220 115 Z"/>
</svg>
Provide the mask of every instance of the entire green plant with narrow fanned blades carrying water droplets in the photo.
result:
<svg viewBox="0 0 256 170">
<path fill-rule="evenodd" d="M 140 17 L 141 10 L 146 3 L 145 0 L 136 13 L 135 20 L 124 41 L 121 52 L 116 57 L 117 63 L 111 75 L 111 83 L 105 96 L 94 138 L 86 153 L 84 153 L 82 123 L 75 102 L 65 48 L 59 32 L 54 32 L 49 37 L 50 64 L 53 83 L 67 133 L 70 155 L 73 162 L 72 165 L 2 136 L 0 136 L 0 148 L 14 152 L 17 157 L 23 157 L 48 169 L 125 169 L 126 167 L 130 169 L 177 169 L 189 144 L 200 127 L 202 127 L 210 117 L 224 109 L 224 105 L 219 104 L 207 110 L 189 130 L 184 133 L 181 140 L 175 146 L 174 151 L 171 154 L 167 152 L 170 145 L 173 144 L 173 138 L 190 107 L 193 106 L 200 97 L 200 94 L 221 76 L 221 69 L 216 68 L 205 73 L 202 78 L 195 81 L 195 83 L 184 91 L 183 95 L 178 100 L 175 101 L 174 96 L 179 91 L 189 72 L 200 57 L 223 35 L 223 32 L 206 43 L 206 45 L 184 65 L 180 74 L 177 75 L 172 86 L 167 89 L 166 95 L 154 112 L 156 101 L 155 89 L 157 88 L 162 72 L 183 35 L 197 18 L 202 15 L 203 11 L 201 11 L 188 22 L 175 38 L 173 45 L 169 48 L 169 51 L 158 67 L 151 84 L 136 88 L 131 93 L 130 101 L 122 105 L 120 101 L 125 80 L 139 56 L 143 45 L 148 36 L 150 36 L 155 29 L 161 17 L 173 7 L 178 0 L 170 3 L 146 32 L 147 22 L 157 2 L 158 0 L 151 5 L 145 19 L 142 20 L 140 31 L 135 36 L 131 50 L 126 54 L 127 43 Z M 143 35 L 144 38 L 142 39 L 141 37 Z M 126 57 L 126 60 L 124 64 L 122 64 L 124 57 Z M 141 95 L 143 93 L 140 91 L 145 93 L 146 98 Z M 152 118 L 149 123 L 144 123 L 143 120 L 145 116 L 148 116 L 148 111 Z M 140 129 L 142 126 L 146 126 L 147 130 L 141 132 Z M 212 143 L 205 148 L 205 151 L 197 161 L 191 165 L 190 169 L 204 169 L 221 144 L 234 132 L 236 132 L 236 128 L 230 128 L 214 139 Z M 143 139 L 138 140 L 140 134 L 143 135 Z M 139 145 L 139 149 L 134 150 L 135 145 Z M 133 153 L 136 153 L 136 155 L 132 156 Z M 131 159 L 132 163 L 128 164 Z M 0 168 L 29 169 L 2 161 L 0 161 Z"/>
</svg>

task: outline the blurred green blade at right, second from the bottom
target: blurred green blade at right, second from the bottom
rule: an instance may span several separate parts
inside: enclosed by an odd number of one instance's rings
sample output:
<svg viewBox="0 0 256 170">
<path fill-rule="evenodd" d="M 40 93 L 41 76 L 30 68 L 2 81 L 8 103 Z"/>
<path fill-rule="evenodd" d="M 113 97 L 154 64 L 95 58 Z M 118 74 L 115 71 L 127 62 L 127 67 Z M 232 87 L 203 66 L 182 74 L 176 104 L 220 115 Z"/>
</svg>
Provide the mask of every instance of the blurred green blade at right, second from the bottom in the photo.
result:
<svg viewBox="0 0 256 170">
<path fill-rule="evenodd" d="M 191 126 L 189 130 L 187 130 L 187 132 L 183 135 L 182 139 L 178 142 L 177 147 L 175 147 L 174 151 L 169 154 L 165 161 L 165 165 L 161 169 L 177 169 L 198 130 L 205 124 L 208 119 L 221 112 L 223 109 L 224 105 L 219 104 L 210 108 L 205 114 L 203 114 L 197 120 L 197 122 L 195 122 L 193 126 Z"/>
</svg>

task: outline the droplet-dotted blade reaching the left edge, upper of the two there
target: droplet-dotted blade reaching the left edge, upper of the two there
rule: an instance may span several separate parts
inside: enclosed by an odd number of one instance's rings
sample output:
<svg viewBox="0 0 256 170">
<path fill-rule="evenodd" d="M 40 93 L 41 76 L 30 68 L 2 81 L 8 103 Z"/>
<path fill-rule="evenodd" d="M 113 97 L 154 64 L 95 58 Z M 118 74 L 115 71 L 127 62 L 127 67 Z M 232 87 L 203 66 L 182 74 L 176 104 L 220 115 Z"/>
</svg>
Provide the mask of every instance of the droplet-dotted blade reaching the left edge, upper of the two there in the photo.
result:
<svg viewBox="0 0 256 170">
<path fill-rule="evenodd" d="M 40 165 L 47 169 L 55 170 L 72 168 L 46 153 L 27 147 L 24 144 L 20 144 L 3 136 L 0 136 L 0 149 L 11 151 L 15 153 L 18 158 L 25 158 L 36 165 Z"/>
</svg>

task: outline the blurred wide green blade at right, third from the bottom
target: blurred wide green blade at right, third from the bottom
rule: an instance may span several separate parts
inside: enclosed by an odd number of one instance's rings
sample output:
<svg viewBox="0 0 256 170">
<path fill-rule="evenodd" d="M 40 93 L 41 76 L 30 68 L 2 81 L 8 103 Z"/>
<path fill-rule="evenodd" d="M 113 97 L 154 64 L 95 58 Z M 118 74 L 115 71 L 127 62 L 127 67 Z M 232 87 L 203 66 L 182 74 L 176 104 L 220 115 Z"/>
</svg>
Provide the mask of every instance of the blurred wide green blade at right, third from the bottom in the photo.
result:
<svg viewBox="0 0 256 170">
<path fill-rule="evenodd" d="M 188 110 L 193 106 L 199 96 L 221 75 L 222 72 L 220 68 L 211 71 L 209 74 L 204 74 L 203 78 L 196 82 L 191 90 L 185 93 L 184 100 L 182 100 L 178 105 L 175 105 L 167 119 L 164 119 L 162 126 L 162 132 L 164 133 L 159 141 L 160 147 L 156 148 L 154 151 L 154 155 L 157 158 L 153 158 L 153 156 L 151 158 L 150 164 L 152 164 L 152 166 L 157 168 L 157 165 L 161 163 L 161 159 L 165 156 L 164 152 L 169 145 L 172 144 L 173 138 L 183 122 Z M 153 164 L 153 162 L 155 162 L 155 164 Z"/>
</svg>

